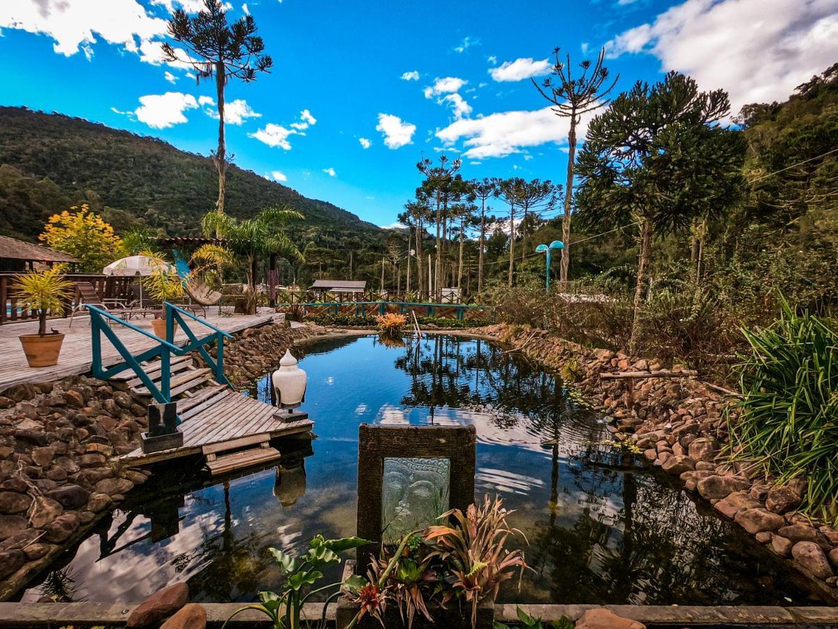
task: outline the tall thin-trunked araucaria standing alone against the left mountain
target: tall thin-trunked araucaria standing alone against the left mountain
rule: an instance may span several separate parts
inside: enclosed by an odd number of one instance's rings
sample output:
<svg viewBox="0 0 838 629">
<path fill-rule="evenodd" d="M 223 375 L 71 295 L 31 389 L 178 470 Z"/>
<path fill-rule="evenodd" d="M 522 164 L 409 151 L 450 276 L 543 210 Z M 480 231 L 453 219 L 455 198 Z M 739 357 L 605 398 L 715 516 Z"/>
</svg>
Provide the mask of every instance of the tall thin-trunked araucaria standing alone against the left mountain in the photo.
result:
<svg viewBox="0 0 838 629">
<path fill-rule="evenodd" d="M 253 16 L 246 15 L 230 24 L 220 0 L 204 0 L 204 10 L 192 18 L 184 9 L 178 8 L 168 22 L 168 34 L 179 44 L 184 44 L 186 57 L 182 56 L 184 50 L 166 42 L 163 43 L 164 60 L 191 65 L 199 83 L 215 78 L 219 118 L 218 148 L 213 155 L 215 168 L 218 169 L 215 209 L 223 212 L 229 161 L 224 139 L 225 86 L 230 78 L 246 83 L 256 81 L 256 72 L 267 72 L 273 62 L 269 55 L 264 54 L 265 44 L 256 34 Z"/>
</svg>

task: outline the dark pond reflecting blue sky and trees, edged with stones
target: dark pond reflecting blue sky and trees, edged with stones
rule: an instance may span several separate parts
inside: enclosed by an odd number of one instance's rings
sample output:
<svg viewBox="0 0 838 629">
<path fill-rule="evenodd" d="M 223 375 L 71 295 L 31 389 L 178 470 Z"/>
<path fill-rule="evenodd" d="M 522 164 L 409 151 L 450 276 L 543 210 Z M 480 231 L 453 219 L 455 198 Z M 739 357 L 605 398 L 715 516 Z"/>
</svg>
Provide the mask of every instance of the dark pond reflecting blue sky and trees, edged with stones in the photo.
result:
<svg viewBox="0 0 838 629">
<path fill-rule="evenodd" d="M 486 341 L 375 336 L 305 349 L 317 439 L 287 439 L 282 465 L 210 479 L 199 460 L 153 480 L 70 548 L 23 600 L 142 600 L 188 580 L 193 600 L 253 600 L 280 576 L 267 548 L 355 533 L 359 424 L 473 424 L 476 494 L 503 496 L 529 544 L 528 603 L 805 605 L 803 582 L 677 481 L 607 444 L 603 419 L 561 380 Z M 267 377 L 251 395 L 269 399 Z M 454 461 L 453 465 L 456 465 Z M 339 569 L 334 570 L 335 578 Z"/>
</svg>

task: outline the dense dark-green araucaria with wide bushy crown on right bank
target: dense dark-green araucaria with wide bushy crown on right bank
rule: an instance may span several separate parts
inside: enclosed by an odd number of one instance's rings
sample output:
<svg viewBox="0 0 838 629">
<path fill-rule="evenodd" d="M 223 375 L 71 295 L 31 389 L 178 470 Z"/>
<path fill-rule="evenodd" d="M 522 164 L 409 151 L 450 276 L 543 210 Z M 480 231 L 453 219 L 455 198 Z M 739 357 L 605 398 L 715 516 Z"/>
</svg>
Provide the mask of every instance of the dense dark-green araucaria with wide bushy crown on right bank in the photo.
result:
<svg viewBox="0 0 838 629">
<path fill-rule="evenodd" d="M 630 351 L 637 350 L 655 235 L 682 231 L 710 208 L 729 208 L 742 188 L 745 140 L 717 122 L 727 92 L 698 91 L 670 72 L 652 87 L 638 81 L 587 127 L 579 153 L 579 218 L 592 226 L 639 225 Z"/>
</svg>

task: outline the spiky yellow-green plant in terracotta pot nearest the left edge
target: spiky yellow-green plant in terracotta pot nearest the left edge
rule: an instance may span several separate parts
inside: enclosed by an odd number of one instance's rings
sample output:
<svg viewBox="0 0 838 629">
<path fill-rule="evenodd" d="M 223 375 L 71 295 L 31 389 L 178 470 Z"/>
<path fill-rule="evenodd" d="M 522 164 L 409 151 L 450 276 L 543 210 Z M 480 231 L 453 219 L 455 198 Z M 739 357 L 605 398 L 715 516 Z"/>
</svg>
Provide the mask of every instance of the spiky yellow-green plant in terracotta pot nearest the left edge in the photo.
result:
<svg viewBox="0 0 838 629">
<path fill-rule="evenodd" d="M 47 313 L 64 313 L 72 285 L 65 280 L 64 268 L 60 265 L 45 271 L 30 271 L 15 284 L 21 307 L 38 310 L 38 334 L 18 337 L 30 367 L 58 364 L 64 335 L 55 331 L 47 334 Z"/>
</svg>

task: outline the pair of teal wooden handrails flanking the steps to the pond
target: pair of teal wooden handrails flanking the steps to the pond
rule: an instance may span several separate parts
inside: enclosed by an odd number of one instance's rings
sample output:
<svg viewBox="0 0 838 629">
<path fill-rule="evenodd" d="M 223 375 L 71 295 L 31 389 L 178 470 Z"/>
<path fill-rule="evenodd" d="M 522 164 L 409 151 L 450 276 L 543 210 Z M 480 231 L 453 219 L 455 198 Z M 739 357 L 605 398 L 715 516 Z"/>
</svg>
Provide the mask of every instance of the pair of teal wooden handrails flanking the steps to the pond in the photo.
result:
<svg viewBox="0 0 838 629">
<path fill-rule="evenodd" d="M 209 321 L 200 319 L 194 314 L 178 308 L 178 306 L 174 304 L 163 302 L 163 315 L 166 319 L 166 338 L 161 339 L 152 332 L 142 330 L 142 328 L 137 325 L 133 325 L 130 321 L 120 319 L 119 317 L 114 316 L 97 306 L 87 305 L 86 308 L 91 313 L 91 350 L 93 353 L 93 366 L 91 368 L 91 372 L 93 373 L 93 377 L 100 378 L 101 380 L 107 380 L 110 377 L 116 376 L 117 373 L 124 372 L 126 369 L 132 369 L 132 371 L 140 379 L 140 382 L 145 385 L 148 391 L 152 394 L 152 397 L 158 403 L 169 403 L 172 401 L 170 386 L 172 379 L 170 368 L 172 355 L 183 356 L 190 351 L 197 350 L 206 362 L 207 366 L 209 366 L 209 368 L 214 372 L 215 381 L 226 384 L 228 387 L 232 388 L 230 381 L 224 375 L 224 340 L 225 338 L 231 339 L 233 337 L 224 330 L 215 327 L 215 325 L 212 325 Z M 184 319 L 184 317 L 186 317 L 186 319 Z M 187 319 L 197 321 L 199 324 L 205 325 L 213 331 L 208 335 L 199 338 L 195 335 L 194 331 L 189 328 L 189 325 L 187 325 Z M 137 356 L 134 356 L 125 344 L 122 343 L 119 336 L 116 335 L 116 332 L 112 327 L 112 323 L 123 325 L 129 330 L 133 330 L 138 334 L 146 336 L 147 338 L 156 341 L 157 345 L 140 352 Z M 187 343 L 184 346 L 178 346 L 174 343 L 175 323 L 180 325 L 181 329 L 184 330 L 184 333 L 186 334 Z M 114 349 L 116 349 L 119 355 L 122 356 L 122 362 L 118 362 L 115 365 L 108 367 L 104 366 L 102 363 L 102 335 L 104 335 L 107 340 L 111 341 L 111 345 Z M 215 343 L 216 348 L 215 358 L 213 358 L 206 348 L 206 346 L 213 343 Z M 153 378 L 148 376 L 141 364 L 144 361 L 153 360 L 158 356 L 160 356 L 159 387 L 154 383 Z"/>
</svg>

